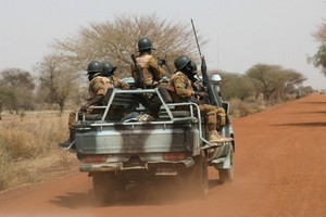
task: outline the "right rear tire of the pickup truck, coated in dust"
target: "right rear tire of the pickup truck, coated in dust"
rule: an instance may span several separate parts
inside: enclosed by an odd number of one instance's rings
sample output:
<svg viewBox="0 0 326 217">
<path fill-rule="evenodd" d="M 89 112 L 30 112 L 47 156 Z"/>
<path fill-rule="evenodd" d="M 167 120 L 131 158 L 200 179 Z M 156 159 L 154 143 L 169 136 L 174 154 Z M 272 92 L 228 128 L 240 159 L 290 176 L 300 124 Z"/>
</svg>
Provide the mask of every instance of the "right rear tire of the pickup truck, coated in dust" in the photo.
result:
<svg viewBox="0 0 326 217">
<path fill-rule="evenodd" d="M 195 166 L 190 176 L 190 187 L 195 195 L 204 196 L 209 193 L 208 163 L 203 155 L 195 156 Z"/>
</svg>

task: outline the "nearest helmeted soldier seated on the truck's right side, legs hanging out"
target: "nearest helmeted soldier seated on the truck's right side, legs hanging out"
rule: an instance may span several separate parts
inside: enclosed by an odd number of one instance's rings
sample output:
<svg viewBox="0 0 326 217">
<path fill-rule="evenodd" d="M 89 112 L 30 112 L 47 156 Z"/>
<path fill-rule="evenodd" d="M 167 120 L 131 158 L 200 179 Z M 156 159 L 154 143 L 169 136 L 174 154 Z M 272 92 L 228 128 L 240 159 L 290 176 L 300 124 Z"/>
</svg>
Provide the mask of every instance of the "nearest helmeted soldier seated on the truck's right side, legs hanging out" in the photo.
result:
<svg viewBox="0 0 326 217">
<path fill-rule="evenodd" d="M 174 61 L 176 67 L 175 74 L 171 77 L 167 89 L 172 91 L 174 102 L 187 102 L 191 97 L 206 98 L 205 91 L 195 91 L 193 82 L 196 81 L 193 65 L 191 60 L 186 55 L 180 55 Z M 205 129 L 210 142 L 225 141 L 216 130 L 217 107 L 210 104 L 199 104 L 200 113 L 205 118 Z"/>
</svg>

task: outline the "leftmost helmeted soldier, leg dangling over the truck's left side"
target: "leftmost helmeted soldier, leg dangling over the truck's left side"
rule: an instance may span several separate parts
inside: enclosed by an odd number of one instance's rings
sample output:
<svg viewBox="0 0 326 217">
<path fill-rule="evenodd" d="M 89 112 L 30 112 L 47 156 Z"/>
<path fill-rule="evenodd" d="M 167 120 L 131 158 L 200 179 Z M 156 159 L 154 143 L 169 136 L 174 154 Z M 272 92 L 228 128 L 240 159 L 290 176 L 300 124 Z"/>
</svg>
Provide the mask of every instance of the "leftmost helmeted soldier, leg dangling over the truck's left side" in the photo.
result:
<svg viewBox="0 0 326 217">
<path fill-rule="evenodd" d="M 103 74 L 103 64 L 99 61 L 91 61 L 87 67 L 88 80 L 89 82 L 89 98 L 87 102 L 82 105 L 82 112 L 87 113 L 96 113 L 97 111 L 91 111 L 88 107 L 90 105 L 102 105 L 103 98 L 106 93 L 108 88 L 113 87 L 112 82 L 110 82 L 109 78 Z M 82 117 L 82 113 L 78 114 Z M 70 129 L 70 138 L 60 143 L 60 146 L 70 146 L 74 143 L 75 140 L 75 130 L 74 130 L 74 123 L 75 123 L 76 112 L 71 112 L 68 116 L 68 129 Z"/>
</svg>

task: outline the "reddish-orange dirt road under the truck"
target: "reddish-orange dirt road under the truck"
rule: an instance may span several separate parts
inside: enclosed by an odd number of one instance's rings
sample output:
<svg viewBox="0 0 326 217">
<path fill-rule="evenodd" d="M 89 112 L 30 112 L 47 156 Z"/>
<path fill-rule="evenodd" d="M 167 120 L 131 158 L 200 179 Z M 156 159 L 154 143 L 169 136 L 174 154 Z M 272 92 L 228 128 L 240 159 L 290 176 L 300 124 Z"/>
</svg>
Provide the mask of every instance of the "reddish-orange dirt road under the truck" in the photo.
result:
<svg viewBox="0 0 326 217">
<path fill-rule="evenodd" d="M 205 199 L 134 188 L 100 205 L 86 174 L 0 194 L 0 216 L 326 216 L 326 94 L 234 119 L 235 181 L 221 184 L 210 168 Z"/>
</svg>

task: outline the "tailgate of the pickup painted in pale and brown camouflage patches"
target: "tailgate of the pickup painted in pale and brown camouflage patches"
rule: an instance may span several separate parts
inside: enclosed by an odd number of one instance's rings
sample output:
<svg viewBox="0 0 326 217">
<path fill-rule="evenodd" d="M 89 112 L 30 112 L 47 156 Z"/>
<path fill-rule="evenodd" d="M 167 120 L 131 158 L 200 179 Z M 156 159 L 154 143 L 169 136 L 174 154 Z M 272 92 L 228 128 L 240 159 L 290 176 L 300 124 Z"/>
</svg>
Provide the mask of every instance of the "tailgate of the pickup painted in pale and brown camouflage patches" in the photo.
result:
<svg viewBox="0 0 326 217">
<path fill-rule="evenodd" d="M 76 129 L 79 154 L 140 154 L 191 151 L 199 131 L 187 124 L 120 124 Z"/>
</svg>

